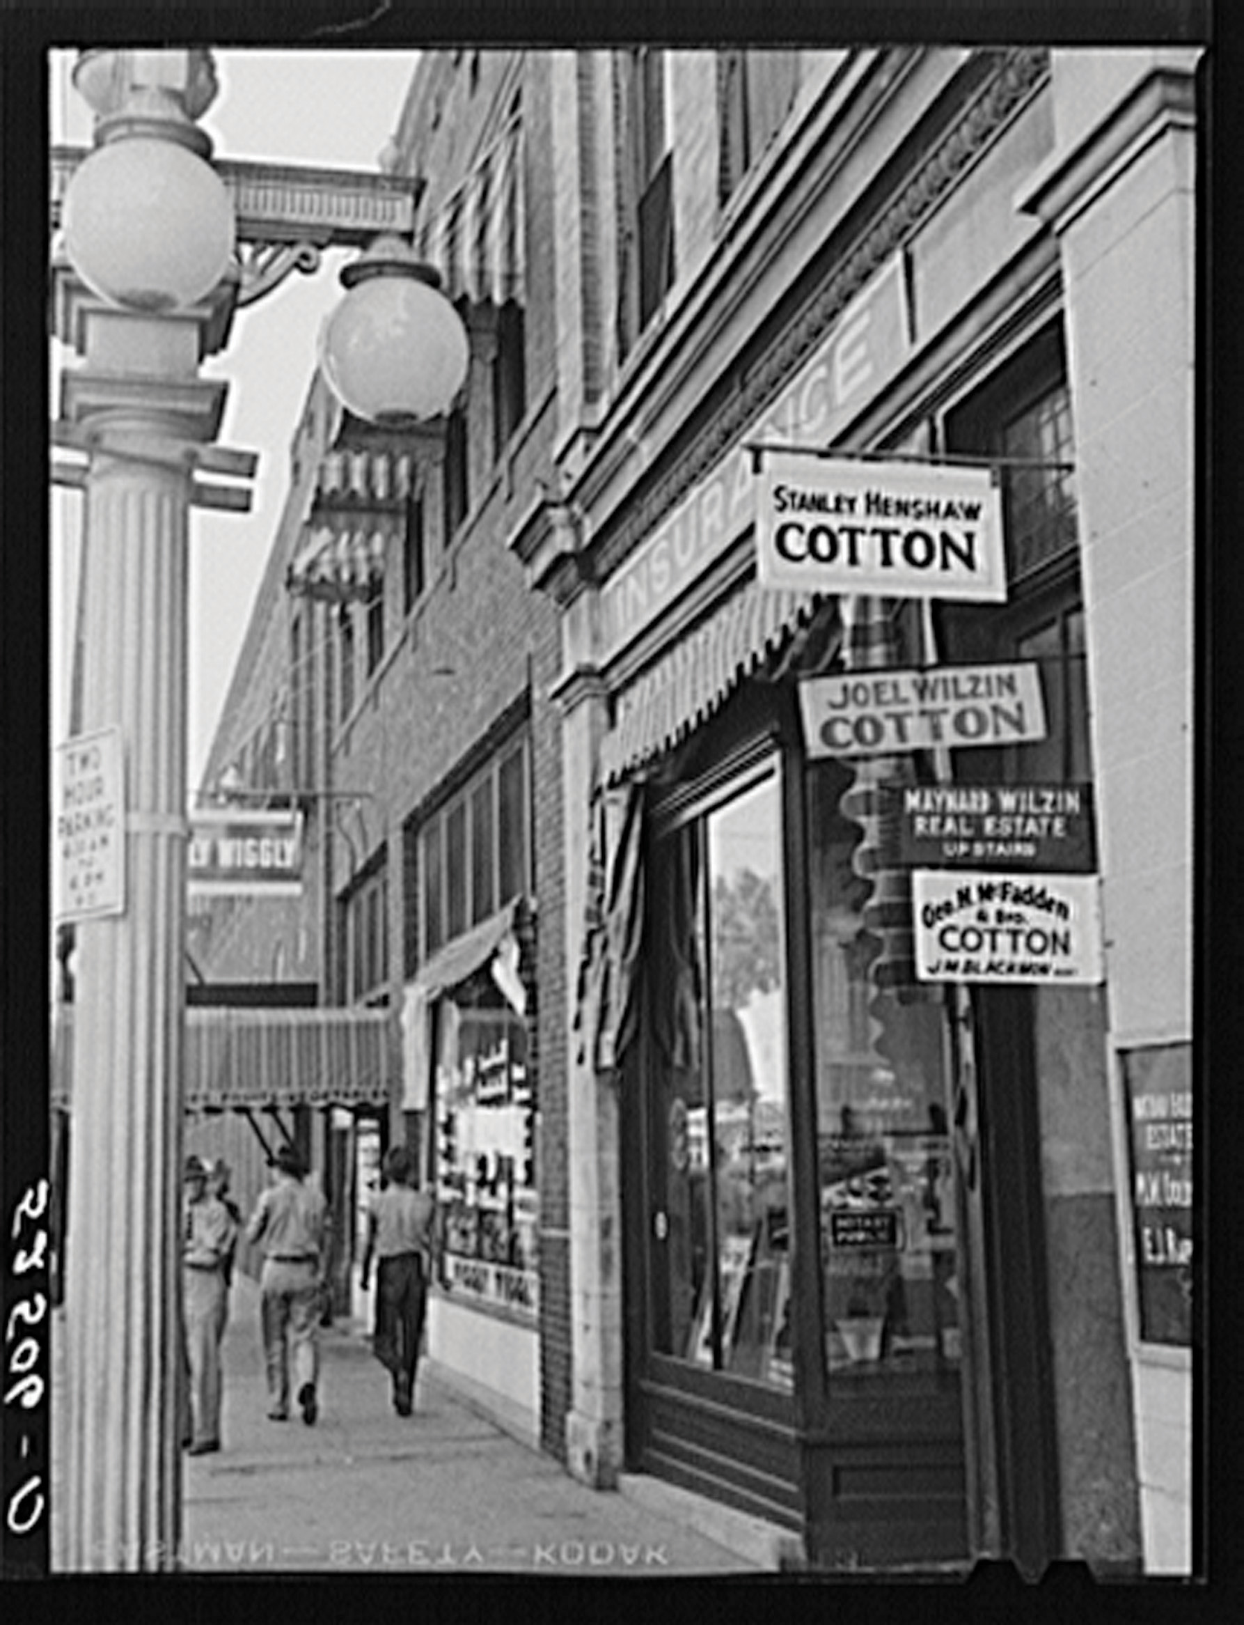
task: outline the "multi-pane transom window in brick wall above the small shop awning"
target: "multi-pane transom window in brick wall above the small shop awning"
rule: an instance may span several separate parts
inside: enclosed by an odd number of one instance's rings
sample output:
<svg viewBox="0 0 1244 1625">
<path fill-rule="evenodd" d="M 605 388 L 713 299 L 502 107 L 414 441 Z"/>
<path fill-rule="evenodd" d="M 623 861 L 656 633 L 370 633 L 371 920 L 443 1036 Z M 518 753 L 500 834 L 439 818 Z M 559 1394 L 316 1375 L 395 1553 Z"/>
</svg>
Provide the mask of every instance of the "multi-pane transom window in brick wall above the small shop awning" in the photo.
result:
<svg viewBox="0 0 1244 1625">
<path fill-rule="evenodd" d="M 424 959 L 529 890 L 529 842 L 528 743 L 521 738 L 419 826 L 417 850 L 406 864 L 406 913 L 421 916 Z M 409 954 L 406 968 L 413 968 Z"/>
</svg>

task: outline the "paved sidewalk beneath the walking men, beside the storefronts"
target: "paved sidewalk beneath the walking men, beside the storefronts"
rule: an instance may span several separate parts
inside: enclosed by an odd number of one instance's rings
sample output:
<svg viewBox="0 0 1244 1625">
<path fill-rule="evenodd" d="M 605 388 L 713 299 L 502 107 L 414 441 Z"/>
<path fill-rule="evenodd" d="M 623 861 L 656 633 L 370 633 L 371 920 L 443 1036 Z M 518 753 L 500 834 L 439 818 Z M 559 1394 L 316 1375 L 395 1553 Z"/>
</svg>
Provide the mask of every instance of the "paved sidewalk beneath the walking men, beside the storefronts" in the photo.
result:
<svg viewBox="0 0 1244 1625">
<path fill-rule="evenodd" d="M 755 1575 L 758 1563 L 651 1505 L 591 1490 L 421 1370 L 416 1414 L 357 1328 L 320 1334 L 320 1419 L 266 1420 L 258 1290 L 235 1279 L 222 1450 L 185 1458 L 184 1557 L 198 1573 Z M 724 1536 L 728 1537 L 728 1536 Z M 754 1557 L 754 1554 L 752 1554 Z"/>
</svg>

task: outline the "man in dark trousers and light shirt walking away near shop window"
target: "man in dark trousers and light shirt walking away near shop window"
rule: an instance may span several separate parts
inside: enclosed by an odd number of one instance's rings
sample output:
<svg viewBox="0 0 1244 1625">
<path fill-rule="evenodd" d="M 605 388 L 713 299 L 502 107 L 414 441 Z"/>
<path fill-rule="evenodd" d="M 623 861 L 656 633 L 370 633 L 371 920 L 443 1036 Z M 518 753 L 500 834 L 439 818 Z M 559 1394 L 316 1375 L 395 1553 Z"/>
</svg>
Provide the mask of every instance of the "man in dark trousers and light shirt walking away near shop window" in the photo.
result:
<svg viewBox="0 0 1244 1625">
<path fill-rule="evenodd" d="M 388 1186 L 372 1201 L 362 1285 L 367 1287 L 375 1254 L 380 1264 L 372 1347 L 393 1378 L 393 1409 L 400 1417 L 408 1417 L 414 1409 L 414 1372 L 424 1332 L 435 1204 L 425 1191 L 411 1188 L 414 1167 L 403 1147 L 395 1146 L 383 1167 Z"/>
</svg>

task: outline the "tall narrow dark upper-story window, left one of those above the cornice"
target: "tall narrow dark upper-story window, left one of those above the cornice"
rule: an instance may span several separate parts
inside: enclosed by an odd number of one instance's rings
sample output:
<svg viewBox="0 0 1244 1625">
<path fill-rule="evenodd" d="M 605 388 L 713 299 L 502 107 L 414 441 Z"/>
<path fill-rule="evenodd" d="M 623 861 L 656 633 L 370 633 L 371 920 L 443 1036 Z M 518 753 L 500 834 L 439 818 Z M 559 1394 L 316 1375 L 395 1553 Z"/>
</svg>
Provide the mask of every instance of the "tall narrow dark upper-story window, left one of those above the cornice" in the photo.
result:
<svg viewBox="0 0 1244 1625">
<path fill-rule="evenodd" d="M 625 359 L 674 281 L 674 197 L 666 52 L 620 50 L 616 58 L 619 306 L 617 349 Z"/>
</svg>

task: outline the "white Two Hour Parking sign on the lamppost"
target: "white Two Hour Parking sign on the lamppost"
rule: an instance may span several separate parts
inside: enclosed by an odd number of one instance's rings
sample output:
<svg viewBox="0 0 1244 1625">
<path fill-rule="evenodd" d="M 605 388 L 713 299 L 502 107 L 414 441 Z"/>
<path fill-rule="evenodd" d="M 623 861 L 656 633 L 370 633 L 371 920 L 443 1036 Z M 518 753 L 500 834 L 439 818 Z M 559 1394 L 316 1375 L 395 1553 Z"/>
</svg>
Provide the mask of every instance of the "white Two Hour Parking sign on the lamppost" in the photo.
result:
<svg viewBox="0 0 1244 1625">
<path fill-rule="evenodd" d="M 57 920 L 125 913 L 125 760 L 120 728 L 57 746 Z"/>
</svg>

